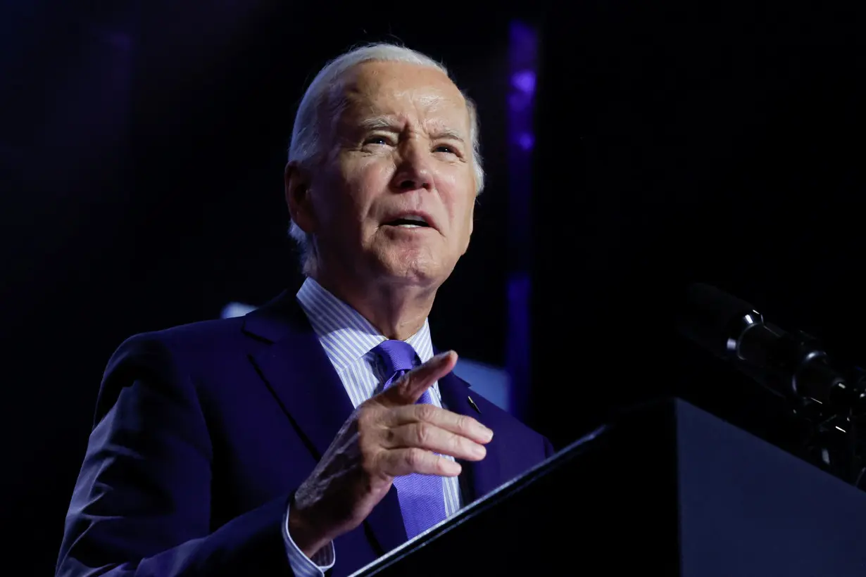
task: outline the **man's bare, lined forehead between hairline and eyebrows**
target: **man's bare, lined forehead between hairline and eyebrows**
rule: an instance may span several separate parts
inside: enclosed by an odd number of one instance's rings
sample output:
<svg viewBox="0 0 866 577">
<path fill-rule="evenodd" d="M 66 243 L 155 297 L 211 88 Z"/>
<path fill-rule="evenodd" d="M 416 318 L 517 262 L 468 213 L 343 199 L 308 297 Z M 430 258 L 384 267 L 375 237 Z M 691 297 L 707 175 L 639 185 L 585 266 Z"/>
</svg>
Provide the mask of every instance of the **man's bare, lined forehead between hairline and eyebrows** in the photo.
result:
<svg viewBox="0 0 866 577">
<path fill-rule="evenodd" d="M 469 127 L 469 110 L 462 93 L 434 67 L 364 62 L 346 73 L 341 87 L 344 120 L 391 116 Z"/>
</svg>

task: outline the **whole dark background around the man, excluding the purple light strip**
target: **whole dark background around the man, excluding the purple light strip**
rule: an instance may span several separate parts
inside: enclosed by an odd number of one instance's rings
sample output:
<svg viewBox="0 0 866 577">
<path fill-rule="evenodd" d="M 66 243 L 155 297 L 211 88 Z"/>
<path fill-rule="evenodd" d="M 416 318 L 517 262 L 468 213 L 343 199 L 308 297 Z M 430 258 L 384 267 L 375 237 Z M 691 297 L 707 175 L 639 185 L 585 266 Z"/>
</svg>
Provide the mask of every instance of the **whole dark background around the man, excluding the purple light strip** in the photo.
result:
<svg viewBox="0 0 866 577">
<path fill-rule="evenodd" d="M 673 393 L 790 441 L 779 402 L 671 321 L 703 280 L 863 359 L 863 18 L 645 4 L 3 3 L 0 512 L 4 544 L 31 551 L 16 574 L 51 572 L 113 349 L 300 282 L 281 190 L 294 109 L 359 42 L 444 61 L 480 109 L 488 187 L 437 343 L 507 362 L 520 19 L 541 39 L 527 420 L 563 446 Z"/>
</svg>

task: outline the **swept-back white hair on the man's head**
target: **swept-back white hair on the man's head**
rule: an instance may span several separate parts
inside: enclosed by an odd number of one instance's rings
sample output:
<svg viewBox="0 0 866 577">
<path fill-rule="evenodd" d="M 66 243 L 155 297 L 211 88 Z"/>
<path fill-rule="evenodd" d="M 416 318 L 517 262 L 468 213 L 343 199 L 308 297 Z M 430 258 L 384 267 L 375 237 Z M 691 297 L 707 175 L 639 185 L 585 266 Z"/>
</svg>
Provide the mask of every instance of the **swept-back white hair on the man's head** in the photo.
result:
<svg viewBox="0 0 866 577">
<path fill-rule="evenodd" d="M 326 138 L 322 138 L 322 134 L 329 134 L 329 132 L 323 131 L 322 127 L 326 125 L 326 121 L 329 119 L 333 122 L 333 117 L 338 112 L 341 99 L 334 97 L 337 96 L 335 93 L 342 88 L 339 79 L 352 67 L 371 61 L 406 62 L 436 68 L 450 78 L 448 70 L 441 63 L 426 54 L 397 44 L 368 44 L 339 55 L 333 61 L 328 62 L 319 71 L 319 74 L 316 74 L 301 99 L 298 112 L 294 117 L 292 142 L 288 147 L 288 162 L 294 162 L 307 170 L 313 170 L 326 157 L 328 151 L 325 150 L 325 146 L 328 143 Z M 466 93 L 462 91 L 461 93 L 469 112 L 469 138 L 472 141 L 475 194 L 480 195 L 481 190 L 484 189 L 484 169 L 481 165 L 478 114 L 472 99 L 469 99 Z M 301 267 L 303 272 L 309 275 L 314 270 L 317 258 L 312 235 L 301 230 L 301 227 L 294 221 L 290 224 L 288 233 L 298 243 L 298 247 L 301 249 Z"/>
</svg>

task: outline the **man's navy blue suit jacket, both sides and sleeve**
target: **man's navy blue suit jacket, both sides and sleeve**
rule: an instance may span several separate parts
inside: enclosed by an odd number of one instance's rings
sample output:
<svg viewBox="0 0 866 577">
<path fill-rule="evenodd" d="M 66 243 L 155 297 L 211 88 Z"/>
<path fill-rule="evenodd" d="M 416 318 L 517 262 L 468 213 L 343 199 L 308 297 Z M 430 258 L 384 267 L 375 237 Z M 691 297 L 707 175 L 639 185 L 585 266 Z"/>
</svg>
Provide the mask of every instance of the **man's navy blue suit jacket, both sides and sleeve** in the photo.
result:
<svg viewBox="0 0 866 577">
<path fill-rule="evenodd" d="M 451 411 L 494 431 L 463 463 L 470 503 L 553 453 L 547 440 L 473 393 L 439 381 Z M 58 575 L 289 575 L 281 533 L 293 491 L 352 413 L 294 294 L 246 317 L 128 339 L 108 363 Z M 337 538 L 333 575 L 405 542 L 394 488 Z"/>
</svg>

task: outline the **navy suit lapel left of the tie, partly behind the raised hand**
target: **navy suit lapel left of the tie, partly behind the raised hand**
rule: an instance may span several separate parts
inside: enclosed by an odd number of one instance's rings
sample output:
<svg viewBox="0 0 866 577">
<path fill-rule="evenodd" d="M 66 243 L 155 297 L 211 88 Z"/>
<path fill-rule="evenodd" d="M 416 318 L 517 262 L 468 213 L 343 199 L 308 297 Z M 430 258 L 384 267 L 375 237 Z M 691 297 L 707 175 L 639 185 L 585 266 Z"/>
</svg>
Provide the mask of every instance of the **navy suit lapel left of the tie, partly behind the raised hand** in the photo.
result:
<svg viewBox="0 0 866 577">
<path fill-rule="evenodd" d="M 250 313 L 244 331 L 271 342 L 250 360 L 307 448 L 320 460 L 353 407 L 307 315 L 294 295 L 283 292 Z M 406 541 L 396 488 L 391 487 L 367 516 L 365 531 L 378 545 L 379 555 Z"/>
</svg>

